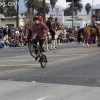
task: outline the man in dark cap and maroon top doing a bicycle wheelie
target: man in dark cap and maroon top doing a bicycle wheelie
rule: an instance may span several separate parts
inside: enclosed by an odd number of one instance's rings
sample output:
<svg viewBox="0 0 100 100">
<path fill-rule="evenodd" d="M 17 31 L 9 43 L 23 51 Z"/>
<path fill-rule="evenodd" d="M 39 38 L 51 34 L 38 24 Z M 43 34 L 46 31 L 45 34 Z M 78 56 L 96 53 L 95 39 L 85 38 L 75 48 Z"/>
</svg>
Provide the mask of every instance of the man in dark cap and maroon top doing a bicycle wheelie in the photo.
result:
<svg viewBox="0 0 100 100">
<path fill-rule="evenodd" d="M 34 22 L 34 26 L 32 28 L 32 37 L 33 37 L 32 39 L 34 39 L 35 37 L 38 38 L 40 47 L 42 51 L 45 52 L 45 50 L 43 49 L 43 43 L 49 29 L 44 23 L 38 20 L 38 17 L 34 17 L 33 22 Z M 36 41 L 34 41 L 34 43 L 37 44 Z"/>
</svg>

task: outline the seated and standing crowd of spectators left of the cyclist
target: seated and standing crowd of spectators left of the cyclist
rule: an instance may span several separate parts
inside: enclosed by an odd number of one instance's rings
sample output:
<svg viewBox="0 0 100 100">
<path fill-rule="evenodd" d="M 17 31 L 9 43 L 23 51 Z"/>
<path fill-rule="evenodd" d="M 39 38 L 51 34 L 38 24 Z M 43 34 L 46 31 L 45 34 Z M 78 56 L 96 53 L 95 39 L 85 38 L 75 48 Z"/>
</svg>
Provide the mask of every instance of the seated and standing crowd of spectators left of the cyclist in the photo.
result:
<svg viewBox="0 0 100 100">
<path fill-rule="evenodd" d="M 27 34 L 24 27 L 8 28 L 5 26 L 0 28 L 0 48 L 21 47 L 26 43 Z"/>
</svg>

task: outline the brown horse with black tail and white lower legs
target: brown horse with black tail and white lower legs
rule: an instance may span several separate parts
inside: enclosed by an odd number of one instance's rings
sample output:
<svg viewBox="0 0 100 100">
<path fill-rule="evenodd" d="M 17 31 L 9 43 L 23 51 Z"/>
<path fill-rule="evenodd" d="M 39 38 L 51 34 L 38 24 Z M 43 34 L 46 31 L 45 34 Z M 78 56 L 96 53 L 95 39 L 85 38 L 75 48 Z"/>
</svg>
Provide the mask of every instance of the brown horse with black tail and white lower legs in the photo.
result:
<svg viewBox="0 0 100 100">
<path fill-rule="evenodd" d="M 83 47 L 85 48 L 85 43 L 87 44 L 87 46 L 89 47 L 89 44 L 88 44 L 88 39 L 89 37 L 91 36 L 92 39 L 95 41 L 96 40 L 96 37 L 98 38 L 98 41 L 100 41 L 100 35 L 98 34 L 97 32 L 97 29 L 94 28 L 94 27 L 91 27 L 91 26 L 86 26 L 84 28 L 81 28 L 79 31 L 78 31 L 78 42 L 81 41 L 81 34 L 83 35 Z"/>
</svg>

